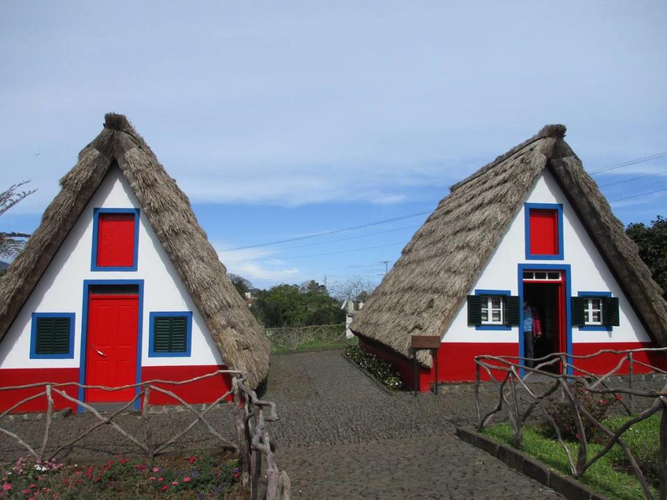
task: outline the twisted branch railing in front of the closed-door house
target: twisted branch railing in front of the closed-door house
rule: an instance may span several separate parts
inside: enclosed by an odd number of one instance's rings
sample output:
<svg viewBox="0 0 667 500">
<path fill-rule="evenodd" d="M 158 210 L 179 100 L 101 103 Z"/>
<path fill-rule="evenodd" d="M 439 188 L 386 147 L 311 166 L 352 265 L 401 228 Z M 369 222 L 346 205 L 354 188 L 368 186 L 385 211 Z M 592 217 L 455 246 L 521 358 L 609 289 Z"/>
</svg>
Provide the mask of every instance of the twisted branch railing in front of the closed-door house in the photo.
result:
<svg viewBox="0 0 667 500">
<path fill-rule="evenodd" d="M 217 397 L 215 401 L 208 404 L 204 410 L 197 410 L 195 406 L 192 406 L 190 403 L 187 403 L 173 391 L 167 390 L 160 385 L 168 386 L 178 386 L 186 385 L 189 383 L 203 381 L 207 378 L 220 377 L 220 376 L 230 376 L 232 381 L 232 388 L 224 394 Z M 75 397 L 72 397 L 70 394 L 67 394 L 65 387 L 77 387 L 83 390 L 97 389 L 104 390 L 108 392 L 115 392 L 120 390 L 135 389 L 135 395 L 131 401 L 127 401 L 123 406 L 113 412 L 101 413 L 97 409 L 90 406 L 89 403 L 81 401 Z M 179 438 L 183 435 L 186 435 L 188 431 L 197 423 L 201 422 L 209 433 L 217 438 L 221 446 L 224 449 L 231 450 L 234 453 L 240 454 L 242 460 L 242 474 L 243 474 L 243 483 L 247 487 L 250 487 L 252 500 L 258 499 L 259 495 L 259 480 L 261 478 L 262 469 L 261 469 L 261 457 L 265 456 L 267 462 L 267 476 L 268 476 L 268 487 L 267 487 L 267 500 L 288 500 L 290 498 L 290 479 L 286 472 L 279 472 L 274 453 L 270 446 L 270 438 L 266 428 L 266 422 L 275 422 L 278 419 L 276 412 L 276 406 L 270 401 L 262 401 L 257 398 L 257 395 L 253 390 L 250 390 L 245 385 L 245 378 L 242 377 L 242 373 L 235 370 L 217 370 L 210 374 L 197 376 L 195 378 L 190 378 L 186 381 L 165 381 L 165 380 L 151 380 L 145 381 L 138 384 L 131 385 L 122 385 L 119 387 L 105 387 L 103 385 L 83 385 L 76 382 L 68 383 L 33 383 L 26 385 L 15 385 L 10 387 L 0 387 L 0 397 L 3 392 L 8 392 L 11 390 L 29 390 L 37 389 L 41 390 L 37 394 L 33 394 L 22 401 L 18 401 L 13 406 L 7 410 L 0 413 L 0 422 L 4 417 L 10 415 L 13 411 L 19 409 L 25 403 L 30 401 L 35 401 L 44 397 L 47 401 L 47 411 L 46 411 L 46 425 L 44 426 L 44 436 L 42 437 L 42 442 L 40 447 L 31 446 L 26 440 L 21 436 L 17 435 L 7 428 L 0 427 L 0 433 L 12 437 L 21 447 L 26 449 L 26 451 L 33 456 L 33 458 L 38 462 L 43 462 L 51 460 L 62 453 L 65 449 L 72 447 L 77 442 L 83 440 L 84 437 L 90 435 L 95 429 L 101 426 L 110 426 L 115 431 L 126 437 L 127 440 L 131 441 L 137 447 L 139 447 L 145 456 L 149 460 L 154 460 L 154 458 L 160 453 L 164 453 L 165 450 L 174 444 Z M 185 428 L 181 431 L 169 437 L 163 442 L 156 442 L 153 433 L 153 427 L 151 425 L 151 412 L 149 408 L 151 392 L 157 392 L 164 394 L 168 397 L 174 399 L 179 403 L 179 406 L 185 407 L 187 410 L 192 412 L 195 415 L 195 419 L 190 422 Z M 60 444 L 55 450 L 50 450 L 47 453 L 49 447 L 49 442 L 51 440 L 51 431 L 53 427 L 53 414 L 55 403 L 53 401 L 53 396 L 57 394 L 60 397 L 63 397 L 67 401 L 74 403 L 88 412 L 92 413 L 98 422 L 94 422 L 84 431 L 69 439 L 65 444 Z M 236 438 L 238 443 L 231 442 L 227 440 L 222 434 L 217 431 L 214 426 L 206 419 L 206 415 L 213 408 L 216 408 L 219 403 L 226 401 L 228 398 L 233 397 L 234 403 L 234 416 L 236 420 Z M 143 399 L 142 399 L 143 398 Z M 116 417 L 122 415 L 124 412 L 132 408 L 136 401 L 141 401 L 141 419 L 145 424 L 145 436 L 138 437 L 132 435 L 124 428 L 115 422 Z M 163 405 L 160 405 L 163 406 Z M 268 415 L 265 415 L 265 411 L 268 410 Z"/>
</svg>

